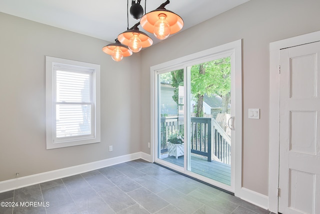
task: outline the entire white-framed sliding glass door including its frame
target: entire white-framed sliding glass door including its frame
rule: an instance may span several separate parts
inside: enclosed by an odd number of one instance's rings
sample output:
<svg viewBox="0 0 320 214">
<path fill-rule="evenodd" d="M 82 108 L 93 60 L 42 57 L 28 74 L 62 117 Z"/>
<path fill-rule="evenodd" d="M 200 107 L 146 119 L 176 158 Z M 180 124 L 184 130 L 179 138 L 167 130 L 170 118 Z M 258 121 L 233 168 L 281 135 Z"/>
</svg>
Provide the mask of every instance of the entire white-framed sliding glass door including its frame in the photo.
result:
<svg viewBox="0 0 320 214">
<path fill-rule="evenodd" d="M 242 167 L 241 42 L 228 46 L 151 67 L 151 135 L 156 162 L 234 191 Z"/>
</svg>

